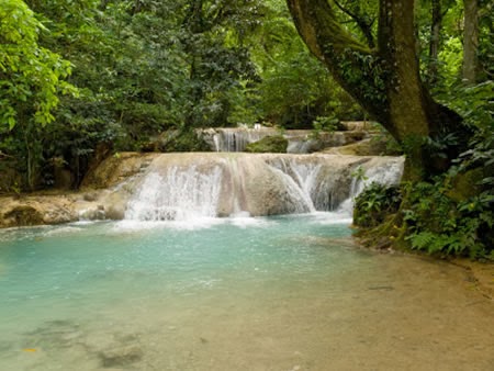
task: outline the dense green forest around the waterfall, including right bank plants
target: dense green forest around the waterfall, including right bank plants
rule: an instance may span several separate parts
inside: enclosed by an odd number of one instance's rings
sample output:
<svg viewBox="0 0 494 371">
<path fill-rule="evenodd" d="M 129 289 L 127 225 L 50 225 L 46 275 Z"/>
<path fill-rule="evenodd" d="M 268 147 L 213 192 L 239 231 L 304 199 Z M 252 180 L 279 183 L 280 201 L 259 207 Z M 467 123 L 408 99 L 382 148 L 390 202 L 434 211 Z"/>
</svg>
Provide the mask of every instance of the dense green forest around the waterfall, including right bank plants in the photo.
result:
<svg viewBox="0 0 494 371">
<path fill-rule="evenodd" d="M 379 1 L 329 3 L 372 47 Z M 159 150 L 198 150 L 200 127 L 375 119 L 311 55 L 282 0 L 1 0 L 0 22 L 0 192 L 54 187 L 60 170 L 77 189 L 99 158 L 167 131 L 179 135 Z M 423 83 L 472 135 L 424 138 L 438 157 L 463 150 L 440 173 L 371 188 L 356 223 L 370 244 L 492 259 L 492 3 L 417 0 L 414 25 Z"/>
</svg>

